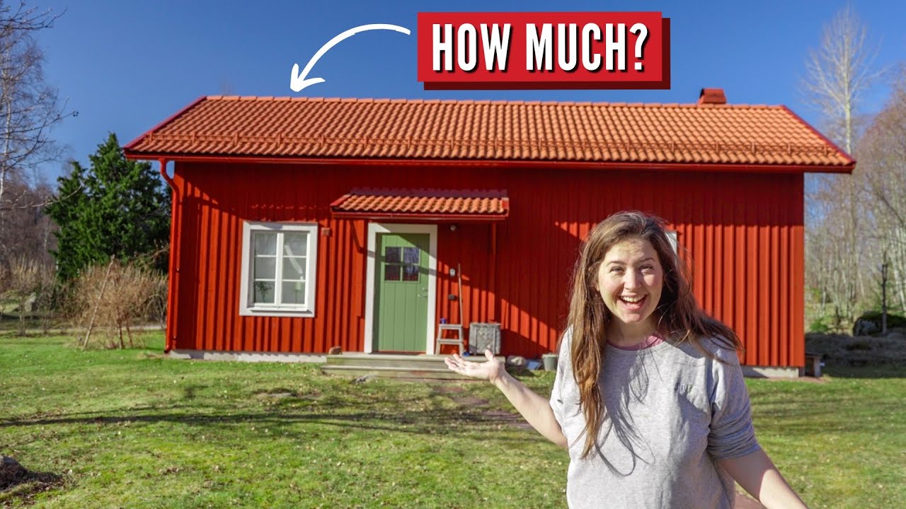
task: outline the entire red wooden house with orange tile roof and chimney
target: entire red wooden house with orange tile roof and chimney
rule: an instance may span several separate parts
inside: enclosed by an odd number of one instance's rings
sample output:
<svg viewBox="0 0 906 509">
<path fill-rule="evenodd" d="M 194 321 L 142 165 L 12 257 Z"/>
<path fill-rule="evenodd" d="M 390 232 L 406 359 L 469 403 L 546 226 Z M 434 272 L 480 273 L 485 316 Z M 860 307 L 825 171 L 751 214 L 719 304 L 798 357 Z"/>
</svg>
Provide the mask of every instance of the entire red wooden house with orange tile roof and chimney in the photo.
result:
<svg viewBox="0 0 906 509">
<path fill-rule="evenodd" d="M 167 351 L 433 353 L 446 319 L 538 356 L 583 236 L 641 209 L 745 364 L 801 367 L 804 174 L 854 161 L 725 102 L 202 97 L 125 147 L 173 189 Z"/>
</svg>

